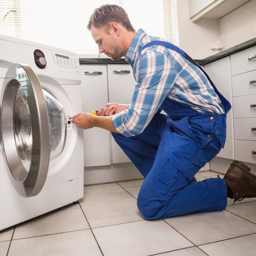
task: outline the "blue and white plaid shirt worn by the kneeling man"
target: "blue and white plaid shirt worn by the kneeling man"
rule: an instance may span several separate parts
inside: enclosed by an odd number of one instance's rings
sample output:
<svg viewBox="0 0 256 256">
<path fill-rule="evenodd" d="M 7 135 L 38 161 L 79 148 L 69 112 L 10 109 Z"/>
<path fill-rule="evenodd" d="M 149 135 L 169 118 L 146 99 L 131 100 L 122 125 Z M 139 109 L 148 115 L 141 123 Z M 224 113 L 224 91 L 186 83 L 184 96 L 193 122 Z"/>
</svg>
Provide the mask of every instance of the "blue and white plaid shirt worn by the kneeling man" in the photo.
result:
<svg viewBox="0 0 256 256">
<path fill-rule="evenodd" d="M 133 67 L 136 84 L 130 108 L 112 117 L 116 130 L 126 137 L 142 133 L 166 97 L 199 113 L 223 114 L 215 90 L 193 63 L 164 46 L 142 50 L 153 40 L 163 39 L 139 29 L 127 51 L 125 60 Z"/>
</svg>

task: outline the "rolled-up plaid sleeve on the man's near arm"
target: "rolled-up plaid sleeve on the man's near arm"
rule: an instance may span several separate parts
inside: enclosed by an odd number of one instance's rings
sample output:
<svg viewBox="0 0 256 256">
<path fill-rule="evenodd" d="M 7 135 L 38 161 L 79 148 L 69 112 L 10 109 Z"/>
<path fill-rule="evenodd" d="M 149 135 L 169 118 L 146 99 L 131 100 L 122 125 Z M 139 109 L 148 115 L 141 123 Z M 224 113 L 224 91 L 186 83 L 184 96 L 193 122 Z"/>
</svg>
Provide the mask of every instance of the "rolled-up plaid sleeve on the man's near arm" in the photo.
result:
<svg viewBox="0 0 256 256">
<path fill-rule="evenodd" d="M 126 137 L 142 133 L 173 85 L 170 61 L 165 54 L 146 51 L 135 68 L 136 84 L 129 109 L 112 117 L 116 130 Z"/>
</svg>

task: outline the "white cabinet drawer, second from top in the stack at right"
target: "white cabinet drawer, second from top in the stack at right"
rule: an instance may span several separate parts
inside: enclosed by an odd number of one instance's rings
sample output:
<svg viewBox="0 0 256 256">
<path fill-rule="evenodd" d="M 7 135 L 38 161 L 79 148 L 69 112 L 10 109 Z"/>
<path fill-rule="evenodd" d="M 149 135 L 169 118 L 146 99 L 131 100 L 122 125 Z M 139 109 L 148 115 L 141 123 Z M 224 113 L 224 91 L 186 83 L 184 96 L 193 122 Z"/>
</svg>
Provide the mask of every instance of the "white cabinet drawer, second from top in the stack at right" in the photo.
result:
<svg viewBox="0 0 256 256">
<path fill-rule="evenodd" d="M 233 97 L 256 93 L 256 70 L 232 76 Z"/>
</svg>

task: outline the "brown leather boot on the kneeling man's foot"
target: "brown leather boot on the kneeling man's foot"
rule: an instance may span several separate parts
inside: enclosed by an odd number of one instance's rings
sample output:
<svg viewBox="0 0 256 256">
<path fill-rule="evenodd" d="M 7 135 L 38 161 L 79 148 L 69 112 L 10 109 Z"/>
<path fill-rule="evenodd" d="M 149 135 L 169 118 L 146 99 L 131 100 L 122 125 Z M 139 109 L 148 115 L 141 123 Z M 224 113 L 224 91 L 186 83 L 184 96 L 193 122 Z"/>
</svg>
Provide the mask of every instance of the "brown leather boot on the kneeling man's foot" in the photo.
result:
<svg viewBox="0 0 256 256">
<path fill-rule="evenodd" d="M 256 197 L 256 176 L 250 173 L 250 168 L 242 162 L 233 160 L 224 180 L 233 192 L 234 202 L 244 198 Z"/>
</svg>

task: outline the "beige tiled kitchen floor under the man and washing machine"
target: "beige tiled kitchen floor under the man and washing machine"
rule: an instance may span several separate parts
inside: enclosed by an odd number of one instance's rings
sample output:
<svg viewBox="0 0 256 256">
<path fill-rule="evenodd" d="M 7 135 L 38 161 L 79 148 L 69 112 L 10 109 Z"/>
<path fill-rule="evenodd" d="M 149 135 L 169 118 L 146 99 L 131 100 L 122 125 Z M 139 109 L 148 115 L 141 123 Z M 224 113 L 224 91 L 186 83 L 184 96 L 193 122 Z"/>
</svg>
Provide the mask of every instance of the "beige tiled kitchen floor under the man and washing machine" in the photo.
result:
<svg viewBox="0 0 256 256">
<path fill-rule="evenodd" d="M 197 180 L 216 177 L 199 172 Z M 142 181 L 84 187 L 84 198 L 0 232 L 0 255 L 256 255 L 256 200 L 224 211 L 145 221 Z"/>
</svg>

